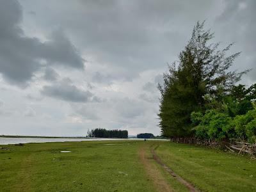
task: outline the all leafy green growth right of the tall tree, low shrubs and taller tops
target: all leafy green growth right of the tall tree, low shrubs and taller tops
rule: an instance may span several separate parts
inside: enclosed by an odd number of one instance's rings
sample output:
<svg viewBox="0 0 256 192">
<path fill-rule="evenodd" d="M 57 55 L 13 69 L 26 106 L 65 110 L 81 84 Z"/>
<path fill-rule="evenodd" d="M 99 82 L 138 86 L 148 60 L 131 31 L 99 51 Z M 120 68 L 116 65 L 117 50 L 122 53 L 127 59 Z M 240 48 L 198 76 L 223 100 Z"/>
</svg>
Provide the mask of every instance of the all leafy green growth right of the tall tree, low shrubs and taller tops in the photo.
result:
<svg viewBox="0 0 256 192">
<path fill-rule="evenodd" d="M 255 143 L 256 108 L 253 108 L 255 85 L 246 89 L 233 86 L 219 102 L 211 100 L 209 109 L 191 113 L 195 136 L 202 140 L 241 140 Z M 239 93 L 239 94 L 238 94 Z M 214 104 L 211 104 L 214 103 Z"/>
</svg>

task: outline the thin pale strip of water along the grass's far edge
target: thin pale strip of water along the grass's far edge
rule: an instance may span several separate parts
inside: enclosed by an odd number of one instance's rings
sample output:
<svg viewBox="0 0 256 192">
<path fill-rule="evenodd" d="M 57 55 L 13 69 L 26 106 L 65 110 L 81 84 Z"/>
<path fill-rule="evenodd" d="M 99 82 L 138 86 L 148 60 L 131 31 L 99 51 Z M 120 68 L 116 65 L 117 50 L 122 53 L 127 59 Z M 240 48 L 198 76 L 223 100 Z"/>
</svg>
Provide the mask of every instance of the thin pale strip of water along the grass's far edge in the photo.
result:
<svg viewBox="0 0 256 192">
<path fill-rule="evenodd" d="M 1 138 L 0 145 L 18 144 L 18 143 L 47 143 L 47 142 L 65 142 L 65 141 L 115 141 L 115 140 L 144 140 L 144 139 L 112 139 L 112 138 Z M 152 139 L 154 140 L 154 139 Z M 168 140 L 159 140 L 168 141 Z"/>
</svg>

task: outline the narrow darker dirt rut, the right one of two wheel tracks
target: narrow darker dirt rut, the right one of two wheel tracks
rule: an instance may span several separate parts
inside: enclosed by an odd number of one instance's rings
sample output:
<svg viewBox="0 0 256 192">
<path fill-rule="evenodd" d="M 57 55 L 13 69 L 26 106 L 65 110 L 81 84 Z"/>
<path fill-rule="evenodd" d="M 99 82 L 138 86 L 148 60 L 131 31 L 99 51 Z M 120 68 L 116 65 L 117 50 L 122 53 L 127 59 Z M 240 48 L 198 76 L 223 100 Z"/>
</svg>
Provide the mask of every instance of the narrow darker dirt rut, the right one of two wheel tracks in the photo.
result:
<svg viewBox="0 0 256 192">
<path fill-rule="evenodd" d="M 159 145 L 157 145 L 155 148 L 151 148 L 150 152 L 153 156 L 153 159 L 155 159 L 155 161 L 160 164 L 164 170 L 166 170 L 166 172 L 168 172 L 170 175 L 172 175 L 172 177 L 174 177 L 175 179 L 177 179 L 181 184 L 183 184 L 184 186 L 186 186 L 186 188 L 189 189 L 189 191 L 196 191 L 199 192 L 198 189 L 196 189 L 192 184 L 190 184 L 188 181 L 182 179 L 181 177 L 179 177 L 179 175 L 177 175 L 176 173 L 173 172 L 172 169 L 170 169 L 166 164 L 163 163 L 163 161 L 161 161 L 160 157 L 157 156 L 156 154 L 156 148 L 159 147 Z"/>
</svg>

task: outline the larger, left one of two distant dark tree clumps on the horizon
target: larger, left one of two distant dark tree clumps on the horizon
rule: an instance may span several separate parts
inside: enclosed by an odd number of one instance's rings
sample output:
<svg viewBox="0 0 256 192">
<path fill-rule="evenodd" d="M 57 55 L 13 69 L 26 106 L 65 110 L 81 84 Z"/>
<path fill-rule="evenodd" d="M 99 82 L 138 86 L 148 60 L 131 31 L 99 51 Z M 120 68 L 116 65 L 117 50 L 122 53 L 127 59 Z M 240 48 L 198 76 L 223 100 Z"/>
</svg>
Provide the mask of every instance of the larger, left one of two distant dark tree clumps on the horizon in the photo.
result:
<svg viewBox="0 0 256 192">
<path fill-rule="evenodd" d="M 97 128 L 88 130 L 87 136 L 95 138 L 128 138 L 128 131 L 118 129 L 106 130 L 102 128 Z"/>
</svg>

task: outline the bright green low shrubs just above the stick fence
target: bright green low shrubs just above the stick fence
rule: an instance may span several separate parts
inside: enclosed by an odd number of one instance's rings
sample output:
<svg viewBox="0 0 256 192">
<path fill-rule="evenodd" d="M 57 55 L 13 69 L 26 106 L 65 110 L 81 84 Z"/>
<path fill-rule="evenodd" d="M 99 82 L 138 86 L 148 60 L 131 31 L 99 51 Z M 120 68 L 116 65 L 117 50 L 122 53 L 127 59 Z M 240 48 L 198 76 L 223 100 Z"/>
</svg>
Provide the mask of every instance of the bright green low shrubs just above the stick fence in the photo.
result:
<svg viewBox="0 0 256 192">
<path fill-rule="evenodd" d="M 248 111 L 245 115 L 234 118 L 228 113 L 209 109 L 205 114 L 191 113 L 195 136 L 202 140 L 243 140 L 250 143 L 256 141 L 256 109 Z"/>
</svg>

